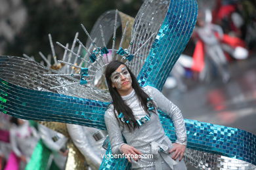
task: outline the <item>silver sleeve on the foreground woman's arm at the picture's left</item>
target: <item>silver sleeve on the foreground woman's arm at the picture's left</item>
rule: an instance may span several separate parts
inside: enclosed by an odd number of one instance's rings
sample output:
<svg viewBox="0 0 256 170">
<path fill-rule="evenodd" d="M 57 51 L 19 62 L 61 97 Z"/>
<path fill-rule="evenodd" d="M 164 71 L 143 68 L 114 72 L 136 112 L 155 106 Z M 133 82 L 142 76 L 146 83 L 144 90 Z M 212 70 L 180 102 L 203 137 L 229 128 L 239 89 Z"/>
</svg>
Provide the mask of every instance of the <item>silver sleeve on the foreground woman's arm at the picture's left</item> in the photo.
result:
<svg viewBox="0 0 256 170">
<path fill-rule="evenodd" d="M 121 133 L 122 128 L 114 115 L 113 107 L 110 106 L 108 110 L 106 110 L 104 120 L 110 137 L 112 154 L 122 154 L 120 148 L 125 143 L 123 142 L 123 136 Z"/>
</svg>

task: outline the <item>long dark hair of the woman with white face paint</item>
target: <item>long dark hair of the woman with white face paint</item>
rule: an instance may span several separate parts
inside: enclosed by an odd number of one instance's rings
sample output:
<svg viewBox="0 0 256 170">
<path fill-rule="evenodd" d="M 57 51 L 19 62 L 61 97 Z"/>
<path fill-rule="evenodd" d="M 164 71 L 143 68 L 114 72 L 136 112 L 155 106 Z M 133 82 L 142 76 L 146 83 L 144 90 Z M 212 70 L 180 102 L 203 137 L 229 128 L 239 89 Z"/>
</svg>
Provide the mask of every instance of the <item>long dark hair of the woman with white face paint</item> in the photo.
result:
<svg viewBox="0 0 256 170">
<path fill-rule="evenodd" d="M 133 115 L 133 110 L 131 110 L 131 108 L 125 104 L 121 95 L 117 92 L 116 88 L 112 87 L 112 80 L 111 80 L 112 73 L 114 71 L 116 71 L 116 69 L 122 64 L 125 65 L 125 63 L 123 63 L 121 61 L 117 61 L 117 60 L 111 61 L 110 63 L 108 63 L 108 66 L 106 67 L 106 70 L 105 70 L 105 77 L 106 77 L 106 82 L 108 84 L 108 90 L 110 91 L 110 95 L 113 100 L 114 111 L 116 110 L 118 114 L 120 112 L 122 112 L 125 119 L 129 120 L 130 123 L 127 124 L 127 123 L 123 123 L 121 121 L 119 121 L 119 122 L 125 124 L 129 128 L 129 131 L 131 131 L 131 129 L 134 130 L 137 127 L 139 128 L 139 125 L 137 124 L 137 121 L 135 120 L 135 116 Z M 127 65 L 125 65 L 125 66 L 127 67 Z M 133 73 L 131 72 L 131 70 L 128 67 L 127 67 L 127 70 L 129 71 L 129 73 L 131 75 L 131 80 L 132 80 L 131 86 L 135 90 L 135 93 L 140 101 L 140 105 L 149 114 L 148 107 L 147 107 L 147 101 L 148 101 L 149 96 L 147 93 L 145 93 L 140 88 L 140 85 L 137 82 L 137 78 L 135 77 L 135 75 L 133 75 Z M 115 114 L 115 116 L 117 118 L 116 114 Z M 119 120 L 119 118 L 117 118 L 117 120 Z"/>
</svg>

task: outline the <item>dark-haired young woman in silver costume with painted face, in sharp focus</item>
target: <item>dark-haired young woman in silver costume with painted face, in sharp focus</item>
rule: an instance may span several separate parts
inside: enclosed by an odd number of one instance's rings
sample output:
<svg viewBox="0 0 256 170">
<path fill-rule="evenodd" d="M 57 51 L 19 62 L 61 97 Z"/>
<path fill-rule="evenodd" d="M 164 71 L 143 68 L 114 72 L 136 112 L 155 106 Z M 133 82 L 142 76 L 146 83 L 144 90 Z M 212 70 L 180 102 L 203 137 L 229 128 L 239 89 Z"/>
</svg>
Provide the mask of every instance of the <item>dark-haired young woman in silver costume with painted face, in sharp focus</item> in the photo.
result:
<svg viewBox="0 0 256 170">
<path fill-rule="evenodd" d="M 133 169 L 186 169 L 182 160 L 186 127 L 181 110 L 156 88 L 140 88 L 136 77 L 120 61 L 110 62 L 105 76 L 113 100 L 104 116 L 112 154 L 129 155 Z M 174 144 L 165 135 L 156 109 L 173 120 L 177 135 Z"/>
</svg>

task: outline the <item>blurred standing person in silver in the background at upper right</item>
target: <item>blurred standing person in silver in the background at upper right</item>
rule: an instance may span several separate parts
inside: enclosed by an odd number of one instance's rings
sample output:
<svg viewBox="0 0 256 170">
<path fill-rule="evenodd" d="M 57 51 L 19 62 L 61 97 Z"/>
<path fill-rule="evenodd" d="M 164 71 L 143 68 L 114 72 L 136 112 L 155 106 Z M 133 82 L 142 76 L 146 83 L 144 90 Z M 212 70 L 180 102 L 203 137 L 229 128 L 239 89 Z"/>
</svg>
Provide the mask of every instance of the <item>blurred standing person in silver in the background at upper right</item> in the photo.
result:
<svg viewBox="0 0 256 170">
<path fill-rule="evenodd" d="M 205 19 L 203 20 L 203 18 Z M 223 49 L 221 48 L 221 42 L 216 36 L 217 34 L 219 35 L 220 39 L 222 39 L 223 30 L 219 25 L 211 24 L 211 20 L 211 10 L 206 9 L 204 16 L 200 16 L 200 18 L 198 18 L 198 26 L 195 29 L 195 33 L 198 35 L 198 42 L 201 43 L 201 48 L 203 48 L 206 56 L 206 64 L 202 65 L 204 64 L 204 62 L 202 62 L 201 65 L 198 65 L 198 67 L 200 67 L 200 69 L 198 69 L 198 71 L 200 71 L 199 78 L 200 80 L 210 79 L 209 76 L 211 75 L 211 70 L 209 63 L 212 62 L 215 67 L 217 67 L 223 82 L 228 82 L 230 79 L 228 62 L 226 60 L 226 56 L 224 55 Z"/>
</svg>

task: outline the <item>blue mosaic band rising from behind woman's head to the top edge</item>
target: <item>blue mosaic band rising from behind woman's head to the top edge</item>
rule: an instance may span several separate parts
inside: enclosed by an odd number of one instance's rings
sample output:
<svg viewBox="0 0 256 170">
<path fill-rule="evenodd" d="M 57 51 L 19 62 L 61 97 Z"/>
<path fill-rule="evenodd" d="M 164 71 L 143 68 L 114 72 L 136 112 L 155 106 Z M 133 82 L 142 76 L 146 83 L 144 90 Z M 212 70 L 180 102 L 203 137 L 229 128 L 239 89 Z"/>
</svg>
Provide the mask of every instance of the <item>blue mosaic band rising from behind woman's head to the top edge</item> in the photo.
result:
<svg viewBox="0 0 256 170">
<path fill-rule="evenodd" d="M 150 85 L 161 91 L 192 35 L 197 15 L 196 1 L 171 1 L 165 20 L 137 76 L 140 86 Z"/>
</svg>

